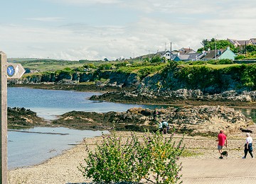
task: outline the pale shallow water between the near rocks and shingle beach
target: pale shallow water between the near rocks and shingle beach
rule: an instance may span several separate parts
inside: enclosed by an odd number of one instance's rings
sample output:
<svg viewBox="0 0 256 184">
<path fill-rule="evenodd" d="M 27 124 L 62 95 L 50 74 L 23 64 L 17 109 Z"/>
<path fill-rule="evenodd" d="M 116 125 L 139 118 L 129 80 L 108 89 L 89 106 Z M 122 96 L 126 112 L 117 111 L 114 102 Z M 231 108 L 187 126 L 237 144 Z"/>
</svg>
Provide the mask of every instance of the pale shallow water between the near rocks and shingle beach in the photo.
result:
<svg viewBox="0 0 256 184">
<path fill-rule="evenodd" d="M 72 130 L 65 127 L 34 127 L 8 131 L 8 169 L 33 166 L 62 154 L 85 137 L 100 136 L 108 131 Z"/>
</svg>

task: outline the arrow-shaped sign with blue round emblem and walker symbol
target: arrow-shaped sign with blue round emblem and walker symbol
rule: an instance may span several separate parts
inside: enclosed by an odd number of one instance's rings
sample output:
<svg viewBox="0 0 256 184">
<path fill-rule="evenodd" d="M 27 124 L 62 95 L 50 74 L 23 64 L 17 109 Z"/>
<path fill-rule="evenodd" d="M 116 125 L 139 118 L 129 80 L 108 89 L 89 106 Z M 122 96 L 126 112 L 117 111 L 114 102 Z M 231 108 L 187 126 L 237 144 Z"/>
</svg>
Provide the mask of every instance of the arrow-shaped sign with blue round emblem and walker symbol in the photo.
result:
<svg viewBox="0 0 256 184">
<path fill-rule="evenodd" d="M 7 79 L 20 79 L 25 71 L 19 63 L 7 63 Z"/>
</svg>

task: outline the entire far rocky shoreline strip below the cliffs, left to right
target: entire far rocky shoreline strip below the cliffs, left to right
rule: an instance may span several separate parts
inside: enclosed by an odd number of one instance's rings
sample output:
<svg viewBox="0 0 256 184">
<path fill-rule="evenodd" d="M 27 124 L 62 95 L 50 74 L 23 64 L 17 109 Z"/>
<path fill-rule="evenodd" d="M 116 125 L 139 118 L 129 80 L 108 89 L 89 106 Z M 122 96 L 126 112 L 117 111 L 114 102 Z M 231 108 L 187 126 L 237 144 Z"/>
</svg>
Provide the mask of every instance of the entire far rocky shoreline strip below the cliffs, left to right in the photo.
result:
<svg viewBox="0 0 256 184">
<path fill-rule="evenodd" d="M 176 91 L 147 91 L 146 88 L 122 87 L 95 84 L 13 84 L 9 87 L 42 88 L 65 91 L 97 91 L 101 96 L 90 100 L 105 100 L 114 103 L 158 105 L 223 105 L 239 108 L 256 108 L 256 91 L 225 91 L 204 94 L 201 90 L 180 89 Z"/>
</svg>

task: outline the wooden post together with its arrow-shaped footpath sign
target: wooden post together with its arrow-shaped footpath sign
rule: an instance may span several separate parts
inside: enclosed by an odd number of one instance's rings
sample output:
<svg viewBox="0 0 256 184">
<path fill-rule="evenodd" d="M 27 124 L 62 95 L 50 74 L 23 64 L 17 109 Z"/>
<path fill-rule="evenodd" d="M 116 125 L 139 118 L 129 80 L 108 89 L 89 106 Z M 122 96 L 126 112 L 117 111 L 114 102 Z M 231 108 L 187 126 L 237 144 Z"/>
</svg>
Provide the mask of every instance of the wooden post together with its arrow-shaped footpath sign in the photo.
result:
<svg viewBox="0 0 256 184">
<path fill-rule="evenodd" d="M 0 110 L 0 132 L 1 132 L 1 147 L 0 147 L 0 157 L 1 157 L 1 173 L 0 173 L 0 183 L 7 183 L 7 79 L 19 79 L 25 73 L 25 69 L 21 64 L 7 63 L 6 54 L 0 51 L 0 65 L 1 65 L 1 110 Z"/>
</svg>

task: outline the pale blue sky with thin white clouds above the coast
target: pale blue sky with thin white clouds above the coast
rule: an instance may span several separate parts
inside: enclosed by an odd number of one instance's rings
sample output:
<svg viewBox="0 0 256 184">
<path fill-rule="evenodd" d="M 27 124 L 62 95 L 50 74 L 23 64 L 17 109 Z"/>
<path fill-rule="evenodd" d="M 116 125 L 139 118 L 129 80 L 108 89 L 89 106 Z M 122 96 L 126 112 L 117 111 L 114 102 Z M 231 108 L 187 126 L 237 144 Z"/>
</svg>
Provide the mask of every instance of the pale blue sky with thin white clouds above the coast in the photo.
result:
<svg viewBox="0 0 256 184">
<path fill-rule="evenodd" d="M 1 1 L 8 58 L 98 60 L 256 38 L 255 0 Z"/>
</svg>

